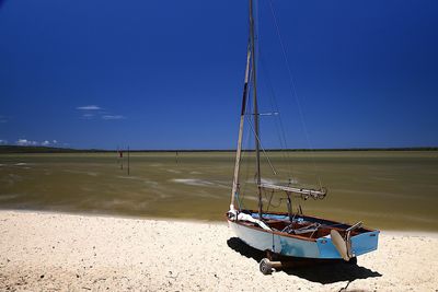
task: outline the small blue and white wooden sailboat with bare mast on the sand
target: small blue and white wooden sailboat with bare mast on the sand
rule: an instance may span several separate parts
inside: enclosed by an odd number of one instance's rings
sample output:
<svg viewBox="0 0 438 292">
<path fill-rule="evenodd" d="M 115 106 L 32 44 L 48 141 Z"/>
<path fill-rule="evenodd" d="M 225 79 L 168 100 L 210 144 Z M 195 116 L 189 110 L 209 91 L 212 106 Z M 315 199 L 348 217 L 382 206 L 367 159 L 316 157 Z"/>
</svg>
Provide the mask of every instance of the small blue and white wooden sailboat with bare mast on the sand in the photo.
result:
<svg viewBox="0 0 438 292">
<path fill-rule="evenodd" d="M 378 247 L 379 231 L 365 227 L 362 222 L 355 224 L 336 222 L 313 215 L 307 215 L 301 207 L 293 212 L 292 200 L 323 199 L 327 190 L 320 188 L 301 188 L 289 185 L 268 184 L 262 179 L 261 174 L 261 141 L 260 141 L 260 113 L 257 108 L 256 83 L 256 44 L 254 32 L 254 4 L 249 0 L 250 37 L 246 55 L 246 68 L 243 86 L 242 109 L 240 115 L 238 148 L 235 154 L 234 175 L 231 190 L 230 210 L 227 212 L 229 226 L 235 235 L 262 252 L 266 252 L 266 258 L 260 264 L 263 273 L 270 273 L 273 268 L 280 265 L 274 261 L 279 257 L 312 258 L 312 259 L 344 259 L 356 264 L 357 257 Z M 249 86 L 251 82 L 252 86 Z M 252 91 L 252 92 L 251 92 Z M 252 95 L 252 113 L 246 113 L 246 103 Z M 242 137 L 245 116 L 253 120 L 253 133 L 255 136 L 255 164 L 256 189 L 258 210 L 245 210 L 238 207 L 235 201 L 240 194 L 240 164 L 242 156 Z M 264 210 L 263 191 L 277 191 L 285 196 L 287 212 L 269 212 Z M 277 265 L 277 266 L 276 266 Z"/>
</svg>

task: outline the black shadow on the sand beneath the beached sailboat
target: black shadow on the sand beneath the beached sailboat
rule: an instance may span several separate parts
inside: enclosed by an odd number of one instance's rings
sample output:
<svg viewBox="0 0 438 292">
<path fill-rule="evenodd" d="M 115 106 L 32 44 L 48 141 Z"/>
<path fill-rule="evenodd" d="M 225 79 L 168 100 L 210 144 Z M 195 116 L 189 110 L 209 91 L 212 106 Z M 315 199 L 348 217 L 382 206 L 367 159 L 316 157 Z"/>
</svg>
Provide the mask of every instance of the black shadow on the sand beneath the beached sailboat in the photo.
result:
<svg viewBox="0 0 438 292">
<path fill-rule="evenodd" d="M 238 237 L 231 237 L 227 241 L 227 244 L 231 249 L 257 262 L 266 257 L 265 253 L 249 246 Z M 370 269 L 357 265 L 346 264 L 343 260 L 293 258 L 291 266 L 283 269 L 283 271 L 287 275 L 293 275 L 308 281 L 322 284 L 342 281 L 348 281 L 348 283 L 350 283 L 357 279 L 382 277 L 382 275 L 377 271 L 371 271 Z"/>
</svg>

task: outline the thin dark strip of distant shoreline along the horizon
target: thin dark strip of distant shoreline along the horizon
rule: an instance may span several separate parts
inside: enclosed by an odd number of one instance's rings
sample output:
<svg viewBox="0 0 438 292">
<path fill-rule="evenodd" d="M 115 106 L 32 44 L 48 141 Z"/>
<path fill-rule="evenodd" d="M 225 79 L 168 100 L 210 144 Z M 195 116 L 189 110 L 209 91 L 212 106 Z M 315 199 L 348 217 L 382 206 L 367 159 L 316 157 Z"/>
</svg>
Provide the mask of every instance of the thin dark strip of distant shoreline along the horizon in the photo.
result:
<svg viewBox="0 0 438 292">
<path fill-rule="evenodd" d="M 118 150 L 105 149 L 72 149 L 53 147 L 22 147 L 22 145 L 0 145 L 0 154 L 9 153 L 111 153 Z M 123 150 L 126 152 L 127 150 Z M 234 149 L 173 149 L 173 150 L 130 150 L 130 152 L 147 153 L 174 153 L 174 152 L 234 152 Z M 244 150 L 253 152 L 253 150 Z M 406 148 L 321 148 L 321 149 L 266 149 L 268 152 L 337 152 L 337 151 L 438 151 L 438 147 L 406 147 Z"/>
</svg>

